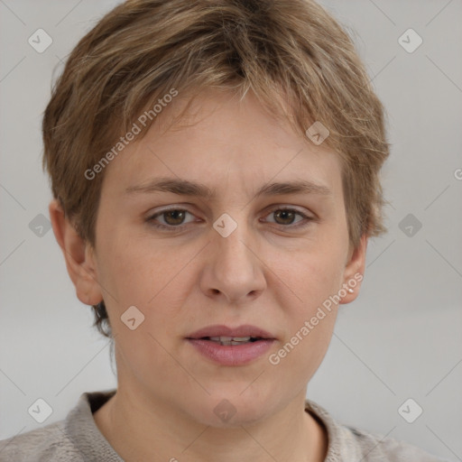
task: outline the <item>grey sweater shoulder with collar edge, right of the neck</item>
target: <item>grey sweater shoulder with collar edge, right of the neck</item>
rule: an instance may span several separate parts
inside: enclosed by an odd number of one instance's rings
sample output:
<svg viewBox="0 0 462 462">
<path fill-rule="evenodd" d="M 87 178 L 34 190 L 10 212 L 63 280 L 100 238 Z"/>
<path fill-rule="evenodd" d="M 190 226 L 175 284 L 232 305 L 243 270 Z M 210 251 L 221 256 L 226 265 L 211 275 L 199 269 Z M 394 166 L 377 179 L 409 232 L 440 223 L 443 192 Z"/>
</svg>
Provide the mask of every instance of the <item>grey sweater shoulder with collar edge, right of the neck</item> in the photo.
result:
<svg viewBox="0 0 462 462">
<path fill-rule="evenodd" d="M 342 425 L 315 402 L 307 400 L 305 409 L 320 420 L 328 432 L 325 462 L 444 462 L 397 439 Z"/>
</svg>

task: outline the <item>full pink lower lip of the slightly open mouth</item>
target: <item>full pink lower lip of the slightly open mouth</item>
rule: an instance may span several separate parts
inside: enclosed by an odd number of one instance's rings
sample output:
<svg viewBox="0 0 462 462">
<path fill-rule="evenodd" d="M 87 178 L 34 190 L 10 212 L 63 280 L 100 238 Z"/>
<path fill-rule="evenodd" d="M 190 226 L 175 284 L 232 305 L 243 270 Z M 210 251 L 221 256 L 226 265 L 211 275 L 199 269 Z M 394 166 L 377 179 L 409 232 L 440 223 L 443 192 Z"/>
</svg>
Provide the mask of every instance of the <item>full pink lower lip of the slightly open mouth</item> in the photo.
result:
<svg viewBox="0 0 462 462">
<path fill-rule="evenodd" d="M 220 365 L 246 365 L 264 355 L 273 345 L 273 339 L 248 342 L 243 345 L 221 345 L 200 338 L 188 338 L 199 353 Z"/>
</svg>

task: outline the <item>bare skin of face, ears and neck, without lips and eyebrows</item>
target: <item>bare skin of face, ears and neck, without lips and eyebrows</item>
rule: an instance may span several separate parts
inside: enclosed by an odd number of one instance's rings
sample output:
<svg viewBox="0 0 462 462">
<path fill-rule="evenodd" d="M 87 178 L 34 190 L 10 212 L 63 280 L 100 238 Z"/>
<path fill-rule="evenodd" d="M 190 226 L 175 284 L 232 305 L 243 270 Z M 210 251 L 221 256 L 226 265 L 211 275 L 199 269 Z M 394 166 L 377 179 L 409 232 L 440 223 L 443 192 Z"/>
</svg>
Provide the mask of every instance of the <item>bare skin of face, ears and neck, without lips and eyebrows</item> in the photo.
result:
<svg viewBox="0 0 462 462">
<path fill-rule="evenodd" d="M 250 92 L 239 100 L 208 91 L 193 106 L 193 123 L 164 130 L 177 100 L 106 167 L 95 247 L 50 205 L 79 300 L 105 300 L 115 337 L 118 389 L 94 414 L 97 427 L 127 462 L 324 460 L 327 434 L 304 400 L 337 306 L 278 365 L 268 356 L 364 273 L 367 238 L 349 244 L 337 155 L 275 120 Z M 125 191 L 158 177 L 196 181 L 216 195 Z M 254 197 L 269 182 L 294 180 L 330 193 Z M 189 213 L 182 223 L 169 214 L 148 220 L 168 207 Z M 281 207 L 312 219 L 281 215 Z M 223 213 L 237 223 L 227 237 L 212 226 Z M 120 318 L 133 305 L 145 318 L 131 330 Z M 276 341 L 248 365 L 217 365 L 185 340 L 212 324 L 252 324 Z M 224 399 L 236 409 L 226 422 L 214 412 Z"/>
</svg>

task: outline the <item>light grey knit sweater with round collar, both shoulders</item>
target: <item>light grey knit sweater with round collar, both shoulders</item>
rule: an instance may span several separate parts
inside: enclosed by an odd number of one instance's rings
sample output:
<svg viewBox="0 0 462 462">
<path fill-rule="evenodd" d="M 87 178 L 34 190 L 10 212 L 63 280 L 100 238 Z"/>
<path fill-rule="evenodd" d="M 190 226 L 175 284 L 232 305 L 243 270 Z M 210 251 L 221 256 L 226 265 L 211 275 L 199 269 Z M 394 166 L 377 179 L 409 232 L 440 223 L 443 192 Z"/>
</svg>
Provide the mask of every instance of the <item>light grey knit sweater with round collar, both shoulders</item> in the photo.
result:
<svg viewBox="0 0 462 462">
<path fill-rule="evenodd" d="M 23 435 L 0 441 L 1 462 L 124 462 L 98 430 L 93 412 L 115 390 L 83 393 L 76 407 L 60 420 Z M 340 425 L 318 404 L 305 409 L 328 430 L 325 462 L 441 462 L 419 448 Z"/>
</svg>

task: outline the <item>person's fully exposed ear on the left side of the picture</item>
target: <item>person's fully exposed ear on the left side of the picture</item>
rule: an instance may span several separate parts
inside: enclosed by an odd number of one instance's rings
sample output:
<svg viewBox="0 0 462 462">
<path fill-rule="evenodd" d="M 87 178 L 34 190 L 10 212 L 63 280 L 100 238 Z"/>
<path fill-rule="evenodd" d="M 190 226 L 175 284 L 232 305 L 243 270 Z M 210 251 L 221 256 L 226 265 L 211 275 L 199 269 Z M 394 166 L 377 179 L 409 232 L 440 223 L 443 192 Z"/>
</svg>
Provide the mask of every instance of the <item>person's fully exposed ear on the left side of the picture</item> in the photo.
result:
<svg viewBox="0 0 462 462">
<path fill-rule="evenodd" d="M 64 255 L 77 297 L 82 303 L 96 305 L 103 300 L 103 296 L 97 282 L 95 252 L 92 245 L 79 236 L 68 217 L 65 217 L 58 200 L 51 200 L 49 211 L 54 236 Z"/>
</svg>

